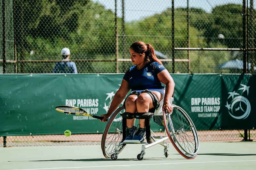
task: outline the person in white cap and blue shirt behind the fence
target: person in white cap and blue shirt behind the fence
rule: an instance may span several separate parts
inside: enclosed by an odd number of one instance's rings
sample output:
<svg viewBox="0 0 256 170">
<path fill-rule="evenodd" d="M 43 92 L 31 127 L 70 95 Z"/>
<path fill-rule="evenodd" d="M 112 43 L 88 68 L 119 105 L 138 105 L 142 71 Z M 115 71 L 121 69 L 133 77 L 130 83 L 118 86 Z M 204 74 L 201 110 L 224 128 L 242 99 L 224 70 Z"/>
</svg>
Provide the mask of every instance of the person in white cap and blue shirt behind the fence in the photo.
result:
<svg viewBox="0 0 256 170">
<path fill-rule="evenodd" d="M 52 73 L 75 73 L 77 74 L 76 63 L 69 61 L 70 50 L 68 48 L 63 48 L 61 50 L 61 55 L 63 57 L 61 62 L 57 62 L 54 66 Z"/>
</svg>

